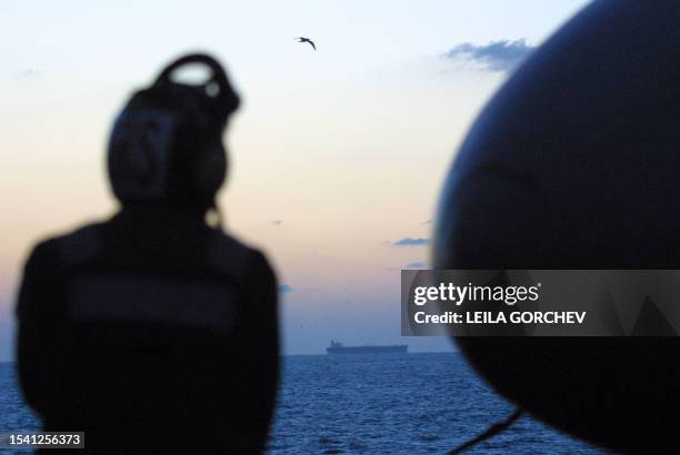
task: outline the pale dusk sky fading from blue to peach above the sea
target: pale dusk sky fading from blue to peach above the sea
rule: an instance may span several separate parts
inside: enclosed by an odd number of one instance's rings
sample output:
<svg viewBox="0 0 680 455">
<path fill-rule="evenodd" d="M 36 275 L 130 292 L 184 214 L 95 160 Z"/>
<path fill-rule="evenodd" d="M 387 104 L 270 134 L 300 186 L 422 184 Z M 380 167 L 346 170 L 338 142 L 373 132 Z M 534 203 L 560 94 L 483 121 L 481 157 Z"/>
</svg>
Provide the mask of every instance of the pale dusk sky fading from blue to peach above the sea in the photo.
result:
<svg viewBox="0 0 680 455">
<path fill-rule="evenodd" d="M 284 352 L 331 338 L 451 350 L 400 337 L 400 270 L 427 266 L 438 193 L 479 110 L 586 3 L 4 2 L 0 361 L 30 247 L 114 213 L 111 120 L 188 51 L 220 59 L 243 99 L 219 201 L 277 270 Z"/>
</svg>

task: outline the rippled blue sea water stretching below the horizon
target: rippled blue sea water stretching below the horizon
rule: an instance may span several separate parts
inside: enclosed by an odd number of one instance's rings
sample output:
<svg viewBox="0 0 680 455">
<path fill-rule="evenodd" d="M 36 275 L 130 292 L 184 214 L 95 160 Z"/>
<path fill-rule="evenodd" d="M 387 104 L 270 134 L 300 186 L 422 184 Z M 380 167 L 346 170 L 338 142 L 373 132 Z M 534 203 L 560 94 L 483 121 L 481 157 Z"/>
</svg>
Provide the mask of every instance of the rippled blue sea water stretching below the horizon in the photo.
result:
<svg viewBox="0 0 680 455">
<path fill-rule="evenodd" d="M 454 353 L 283 357 L 272 454 L 446 453 L 512 406 Z M 0 432 L 38 429 L 0 364 Z M 530 417 L 470 454 L 597 454 Z"/>
</svg>

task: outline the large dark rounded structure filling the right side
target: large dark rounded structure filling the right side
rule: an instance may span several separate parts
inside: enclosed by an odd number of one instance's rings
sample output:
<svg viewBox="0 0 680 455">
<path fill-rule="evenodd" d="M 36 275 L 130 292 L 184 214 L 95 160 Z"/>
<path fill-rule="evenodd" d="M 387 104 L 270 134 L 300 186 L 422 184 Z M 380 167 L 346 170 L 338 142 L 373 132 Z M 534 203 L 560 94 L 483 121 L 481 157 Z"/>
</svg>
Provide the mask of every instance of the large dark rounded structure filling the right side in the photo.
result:
<svg viewBox="0 0 680 455">
<path fill-rule="evenodd" d="M 486 108 L 446 183 L 440 269 L 680 269 L 680 4 L 597 1 Z M 534 416 L 626 453 L 680 451 L 678 337 L 467 337 Z"/>
</svg>

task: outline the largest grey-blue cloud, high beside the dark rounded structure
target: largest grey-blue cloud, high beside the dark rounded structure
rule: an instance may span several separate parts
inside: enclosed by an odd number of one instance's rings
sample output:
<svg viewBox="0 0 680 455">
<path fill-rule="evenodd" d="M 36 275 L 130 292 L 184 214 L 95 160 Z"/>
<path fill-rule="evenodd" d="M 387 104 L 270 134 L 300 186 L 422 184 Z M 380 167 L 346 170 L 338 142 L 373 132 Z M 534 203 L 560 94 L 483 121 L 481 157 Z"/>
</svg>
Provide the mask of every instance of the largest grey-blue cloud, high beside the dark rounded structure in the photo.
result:
<svg viewBox="0 0 680 455">
<path fill-rule="evenodd" d="M 509 71 L 522 63 L 536 47 L 524 40 L 492 41 L 486 46 L 470 42 L 458 44 L 443 57 L 451 60 L 471 60 L 488 71 Z"/>
</svg>

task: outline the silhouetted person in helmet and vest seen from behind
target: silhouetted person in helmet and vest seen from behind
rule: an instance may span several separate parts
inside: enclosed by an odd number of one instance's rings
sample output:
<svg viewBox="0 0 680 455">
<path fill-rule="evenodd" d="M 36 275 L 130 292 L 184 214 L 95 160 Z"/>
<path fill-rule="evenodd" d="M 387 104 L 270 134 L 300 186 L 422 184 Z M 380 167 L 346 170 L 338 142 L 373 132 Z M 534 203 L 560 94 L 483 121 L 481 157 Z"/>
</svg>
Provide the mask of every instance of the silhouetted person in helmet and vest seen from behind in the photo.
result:
<svg viewBox="0 0 680 455">
<path fill-rule="evenodd" d="M 188 63 L 211 80 L 172 81 Z M 111 133 L 122 210 L 31 253 L 18 364 L 44 431 L 84 431 L 92 453 L 263 449 L 278 378 L 276 277 L 260 252 L 204 221 L 217 213 L 221 135 L 238 104 L 214 60 L 172 63 Z"/>
</svg>

